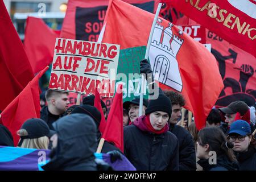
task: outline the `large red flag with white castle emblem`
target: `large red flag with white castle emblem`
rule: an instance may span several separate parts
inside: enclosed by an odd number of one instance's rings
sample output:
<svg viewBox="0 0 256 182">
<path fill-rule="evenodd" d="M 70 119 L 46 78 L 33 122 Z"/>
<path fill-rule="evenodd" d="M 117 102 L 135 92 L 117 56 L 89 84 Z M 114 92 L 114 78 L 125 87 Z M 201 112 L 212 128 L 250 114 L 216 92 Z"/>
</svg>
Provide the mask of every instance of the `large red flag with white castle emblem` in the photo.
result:
<svg viewBox="0 0 256 182">
<path fill-rule="evenodd" d="M 120 44 L 121 49 L 146 46 L 154 14 L 113 0 L 107 16 L 102 42 Z M 214 56 L 203 44 L 159 18 L 149 59 L 160 87 L 183 94 L 185 107 L 195 115 L 197 129 L 204 127 L 224 86 Z"/>
</svg>

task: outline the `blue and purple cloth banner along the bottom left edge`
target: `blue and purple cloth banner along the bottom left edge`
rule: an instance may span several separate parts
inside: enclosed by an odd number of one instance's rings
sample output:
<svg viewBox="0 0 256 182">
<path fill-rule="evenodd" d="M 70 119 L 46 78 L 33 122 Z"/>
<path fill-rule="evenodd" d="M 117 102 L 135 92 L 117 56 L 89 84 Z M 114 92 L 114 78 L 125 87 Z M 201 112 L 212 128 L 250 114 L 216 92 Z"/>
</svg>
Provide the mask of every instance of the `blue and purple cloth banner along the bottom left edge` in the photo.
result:
<svg viewBox="0 0 256 182">
<path fill-rule="evenodd" d="M 43 171 L 48 163 L 51 150 L 0 146 L 0 171 Z M 11 154 L 11 155 L 10 155 Z M 94 153 L 97 159 L 104 160 L 116 171 L 135 171 L 133 164 L 122 155 L 122 160 L 112 162 L 110 154 Z"/>
</svg>

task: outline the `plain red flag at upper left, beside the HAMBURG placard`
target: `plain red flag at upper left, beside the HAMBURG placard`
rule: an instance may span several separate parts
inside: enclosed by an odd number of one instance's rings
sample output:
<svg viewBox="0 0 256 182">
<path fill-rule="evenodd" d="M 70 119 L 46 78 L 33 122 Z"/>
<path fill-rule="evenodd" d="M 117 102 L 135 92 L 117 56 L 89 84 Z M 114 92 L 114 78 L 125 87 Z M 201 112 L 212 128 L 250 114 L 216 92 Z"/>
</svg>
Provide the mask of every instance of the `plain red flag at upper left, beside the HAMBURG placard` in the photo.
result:
<svg viewBox="0 0 256 182">
<path fill-rule="evenodd" d="M 28 17 L 24 48 L 34 73 L 52 63 L 55 39 L 59 34 L 47 26 L 40 18 Z"/>
</svg>

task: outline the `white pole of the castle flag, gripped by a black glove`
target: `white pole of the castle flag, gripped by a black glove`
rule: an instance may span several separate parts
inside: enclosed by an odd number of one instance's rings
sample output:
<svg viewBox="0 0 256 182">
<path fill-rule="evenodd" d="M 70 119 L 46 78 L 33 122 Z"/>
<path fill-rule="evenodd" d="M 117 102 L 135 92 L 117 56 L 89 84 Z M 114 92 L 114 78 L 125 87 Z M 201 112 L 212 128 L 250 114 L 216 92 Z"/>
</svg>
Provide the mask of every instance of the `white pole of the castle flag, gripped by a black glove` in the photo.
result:
<svg viewBox="0 0 256 182">
<path fill-rule="evenodd" d="M 145 59 L 148 59 L 148 52 L 149 52 L 149 49 L 150 49 L 150 43 L 151 43 L 151 40 L 152 40 L 152 36 L 153 36 L 153 33 L 154 33 L 154 29 L 155 29 L 155 23 L 156 23 L 156 20 L 158 19 L 158 15 L 160 13 L 160 9 L 162 7 L 162 4 L 163 3 L 159 3 L 158 4 L 158 9 L 156 10 L 156 13 L 155 13 L 155 18 L 154 18 L 154 21 L 152 23 L 152 27 L 151 27 L 151 31 L 150 31 L 150 36 L 148 38 L 148 41 L 147 41 L 147 48 L 146 48 L 146 54 L 145 54 Z M 143 94 L 144 94 L 144 81 L 145 81 L 145 77 L 142 75 L 142 78 L 141 78 L 141 95 L 139 97 L 139 116 L 142 115 L 142 107 L 143 107 Z"/>
</svg>

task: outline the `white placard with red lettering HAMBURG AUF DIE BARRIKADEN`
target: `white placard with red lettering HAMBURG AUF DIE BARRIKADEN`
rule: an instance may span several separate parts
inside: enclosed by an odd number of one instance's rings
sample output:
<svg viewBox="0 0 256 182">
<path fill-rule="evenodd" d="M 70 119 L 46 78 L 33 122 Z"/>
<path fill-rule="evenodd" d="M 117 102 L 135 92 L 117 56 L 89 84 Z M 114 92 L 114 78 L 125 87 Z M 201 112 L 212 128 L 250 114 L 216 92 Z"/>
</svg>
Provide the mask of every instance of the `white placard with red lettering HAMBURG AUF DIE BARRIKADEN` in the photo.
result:
<svg viewBox="0 0 256 182">
<path fill-rule="evenodd" d="M 119 45 L 58 38 L 49 89 L 111 97 L 118 57 Z"/>
</svg>

